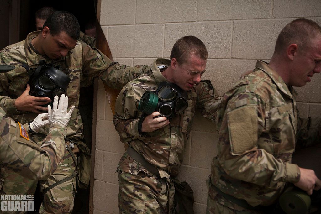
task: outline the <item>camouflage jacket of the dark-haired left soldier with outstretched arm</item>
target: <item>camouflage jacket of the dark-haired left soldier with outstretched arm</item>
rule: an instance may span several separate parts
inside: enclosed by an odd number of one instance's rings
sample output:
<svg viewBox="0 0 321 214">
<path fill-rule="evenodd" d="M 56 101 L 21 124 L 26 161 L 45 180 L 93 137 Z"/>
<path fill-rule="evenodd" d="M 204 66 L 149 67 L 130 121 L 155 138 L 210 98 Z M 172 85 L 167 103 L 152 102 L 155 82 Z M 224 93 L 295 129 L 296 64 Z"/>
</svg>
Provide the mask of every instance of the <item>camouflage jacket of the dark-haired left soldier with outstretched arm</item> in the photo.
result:
<svg viewBox="0 0 321 214">
<path fill-rule="evenodd" d="M 76 107 L 66 127 L 67 138 L 81 140 L 83 138 L 82 120 L 78 111 L 78 103 L 79 88 L 82 86 L 83 78 L 98 77 L 110 87 L 121 89 L 127 82 L 139 76 L 144 67 L 120 66 L 116 62 L 110 61 L 98 49 L 80 41 L 76 43 L 75 48 L 68 52 L 66 57 L 52 60 L 37 54 L 34 48 L 30 46 L 31 40 L 38 34 L 39 31 L 31 32 L 26 40 L 5 47 L 0 51 L 0 63 L 15 66 L 13 71 L 0 74 L 0 93 L 5 92 L 10 97 L 0 96 L 0 107 L 9 116 L 18 119 L 22 123 L 32 121 L 37 116 L 36 113 L 19 112 L 14 105 L 15 99 L 23 93 L 29 80 L 28 73 L 21 65 L 26 63 L 32 68 L 37 68 L 40 60 L 60 65 L 61 70 L 71 79 L 66 92 L 66 96 L 69 97 L 68 108 L 73 105 Z M 43 137 L 48 134 L 48 128 L 41 129 L 39 133 L 33 135 L 33 138 L 38 142 L 42 141 Z"/>
</svg>

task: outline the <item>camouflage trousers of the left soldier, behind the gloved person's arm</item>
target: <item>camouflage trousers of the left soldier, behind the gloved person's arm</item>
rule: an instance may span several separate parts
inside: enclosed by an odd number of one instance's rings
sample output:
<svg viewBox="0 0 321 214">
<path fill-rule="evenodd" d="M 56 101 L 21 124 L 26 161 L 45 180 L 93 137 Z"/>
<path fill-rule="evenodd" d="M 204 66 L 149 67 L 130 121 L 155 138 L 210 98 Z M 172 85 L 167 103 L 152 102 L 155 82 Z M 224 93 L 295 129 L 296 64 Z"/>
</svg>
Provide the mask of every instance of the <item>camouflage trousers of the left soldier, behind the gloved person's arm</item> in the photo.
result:
<svg viewBox="0 0 321 214">
<path fill-rule="evenodd" d="M 74 173 L 74 160 L 66 151 L 65 156 L 59 163 L 56 171 L 45 181 L 41 182 L 41 189 L 54 184 Z M 1 168 L 1 176 L 4 183 L 1 194 L 6 195 L 34 195 L 37 182 L 14 173 L 6 168 Z M 71 213 L 74 207 L 74 192 L 76 188 L 76 178 L 66 181 L 49 190 L 44 194 L 44 201 L 41 203 L 39 213 Z M 12 213 L 12 212 L 11 212 Z M 19 213 L 19 212 L 17 212 Z M 20 212 L 23 213 L 23 212 Z"/>
</svg>

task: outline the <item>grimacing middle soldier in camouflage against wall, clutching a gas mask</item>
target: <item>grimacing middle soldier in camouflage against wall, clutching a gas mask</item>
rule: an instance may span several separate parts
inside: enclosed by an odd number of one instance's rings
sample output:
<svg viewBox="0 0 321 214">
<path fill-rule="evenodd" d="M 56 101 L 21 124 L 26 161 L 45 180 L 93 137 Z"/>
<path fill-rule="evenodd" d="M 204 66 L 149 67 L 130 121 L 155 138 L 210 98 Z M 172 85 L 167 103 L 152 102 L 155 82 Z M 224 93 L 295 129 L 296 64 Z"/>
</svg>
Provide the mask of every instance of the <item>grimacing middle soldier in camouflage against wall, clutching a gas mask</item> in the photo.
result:
<svg viewBox="0 0 321 214">
<path fill-rule="evenodd" d="M 128 150 L 125 152 L 117 167 L 119 213 L 171 213 L 174 186 L 169 179 L 178 175 L 195 110 L 215 121 L 221 103 L 215 89 L 210 90 L 200 82 L 206 58 L 206 47 L 201 40 L 182 37 L 176 41 L 170 60 L 156 59 L 146 68 L 145 75 L 129 82 L 120 92 L 113 119 L 120 140 L 157 171 L 153 173 L 131 157 Z M 188 107 L 169 120 L 154 118 L 160 113 L 153 112 L 142 119 L 140 129 L 143 113 L 138 111 L 139 100 L 145 91 L 157 90 L 160 82 L 172 82 L 187 91 Z"/>
</svg>

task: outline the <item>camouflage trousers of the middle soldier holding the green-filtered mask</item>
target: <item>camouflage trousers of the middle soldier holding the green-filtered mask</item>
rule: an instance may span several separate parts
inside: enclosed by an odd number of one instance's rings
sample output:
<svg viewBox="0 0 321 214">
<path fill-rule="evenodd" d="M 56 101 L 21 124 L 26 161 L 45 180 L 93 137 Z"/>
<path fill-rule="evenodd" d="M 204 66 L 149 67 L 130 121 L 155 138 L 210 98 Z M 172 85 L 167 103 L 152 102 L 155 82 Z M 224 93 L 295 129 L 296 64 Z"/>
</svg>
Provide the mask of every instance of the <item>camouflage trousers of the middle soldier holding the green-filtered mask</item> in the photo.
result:
<svg viewBox="0 0 321 214">
<path fill-rule="evenodd" d="M 168 212 L 167 201 L 169 201 L 170 210 L 172 210 L 175 189 L 169 178 L 158 178 L 142 171 L 133 175 L 119 170 L 118 182 L 120 214 L 171 213 Z"/>
</svg>

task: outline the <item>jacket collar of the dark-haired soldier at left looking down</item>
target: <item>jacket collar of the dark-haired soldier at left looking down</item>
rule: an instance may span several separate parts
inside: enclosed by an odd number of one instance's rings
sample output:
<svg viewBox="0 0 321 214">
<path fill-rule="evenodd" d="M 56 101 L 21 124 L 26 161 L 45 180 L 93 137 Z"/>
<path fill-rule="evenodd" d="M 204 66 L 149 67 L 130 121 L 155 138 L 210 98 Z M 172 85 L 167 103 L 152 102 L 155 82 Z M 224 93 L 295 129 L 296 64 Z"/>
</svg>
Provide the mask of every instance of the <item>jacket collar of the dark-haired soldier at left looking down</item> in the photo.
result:
<svg viewBox="0 0 321 214">
<path fill-rule="evenodd" d="M 46 63 L 55 63 L 55 62 L 58 62 L 60 60 L 63 60 L 62 57 L 56 59 L 56 60 L 52 60 L 48 57 L 43 57 L 43 56 L 40 56 L 39 54 L 35 53 L 32 48 L 30 47 L 30 44 L 29 44 L 29 40 L 30 39 L 33 39 L 35 37 L 37 37 L 39 35 L 41 31 L 38 30 L 38 31 L 34 31 L 34 32 L 31 32 L 27 35 L 27 38 L 24 42 L 24 50 L 25 50 L 25 53 L 26 53 L 26 58 L 27 58 L 27 64 L 29 66 L 32 66 L 32 65 L 37 65 L 39 64 L 39 61 L 40 60 L 45 60 Z"/>
</svg>

